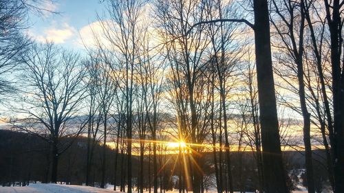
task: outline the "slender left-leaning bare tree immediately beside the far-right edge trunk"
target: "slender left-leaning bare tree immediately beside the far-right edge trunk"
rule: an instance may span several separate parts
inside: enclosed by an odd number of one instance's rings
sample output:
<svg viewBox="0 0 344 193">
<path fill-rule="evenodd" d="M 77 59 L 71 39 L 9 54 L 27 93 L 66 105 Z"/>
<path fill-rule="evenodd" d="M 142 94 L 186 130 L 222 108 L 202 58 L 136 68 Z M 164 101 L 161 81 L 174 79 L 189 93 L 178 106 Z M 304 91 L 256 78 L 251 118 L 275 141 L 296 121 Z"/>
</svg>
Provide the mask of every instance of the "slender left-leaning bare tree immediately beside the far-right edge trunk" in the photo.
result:
<svg viewBox="0 0 344 193">
<path fill-rule="evenodd" d="M 327 62 L 329 59 L 330 43 L 326 38 L 326 27 L 325 18 L 319 10 L 321 9 L 321 2 L 318 1 L 304 1 L 305 6 L 304 14 L 305 20 L 307 21 L 308 36 L 310 38 L 310 46 L 305 46 L 304 60 L 305 65 L 308 67 L 308 72 L 305 78 L 307 79 L 307 87 L 310 91 L 310 98 L 314 102 L 314 117 L 319 121 L 319 128 L 323 137 L 323 145 L 325 147 L 326 159 L 327 159 L 327 172 L 332 185 L 334 188 L 334 174 L 333 174 L 333 143 L 334 143 L 334 128 L 333 128 L 333 117 L 332 117 L 332 92 L 331 92 L 331 78 L 330 76 L 330 65 Z M 310 49 L 307 49 L 310 47 Z M 314 80 L 311 79 L 312 74 L 316 78 L 316 86 L 312 84 Z M 329 92 L 330 90 L 330 92 Z M 328 137 L 328 139 L 327 139 Z"/>
</svg>

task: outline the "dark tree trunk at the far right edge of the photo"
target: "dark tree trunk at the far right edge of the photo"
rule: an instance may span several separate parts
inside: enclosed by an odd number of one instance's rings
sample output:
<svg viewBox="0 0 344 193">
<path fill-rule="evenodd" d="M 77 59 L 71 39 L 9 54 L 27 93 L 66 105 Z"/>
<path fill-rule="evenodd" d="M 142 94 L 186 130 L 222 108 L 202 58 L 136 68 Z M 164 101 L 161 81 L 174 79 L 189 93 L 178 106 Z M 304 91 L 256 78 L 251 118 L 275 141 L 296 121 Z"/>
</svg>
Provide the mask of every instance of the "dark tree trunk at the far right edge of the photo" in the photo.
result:
<svg viewBox="0 0 344 193">
<path fill-rule="evenodd" d="M 330 9 L 332 8 L 332 14 Z M 344 192 L 344 72 L 341 67 L 342 21 L 341 5 L 325 0 L 327 23 L 331 38 L 332 89 L 334 109 L 334 192 Z M 332 16 L 332 17 L 331 17 Z"/>
</svg>

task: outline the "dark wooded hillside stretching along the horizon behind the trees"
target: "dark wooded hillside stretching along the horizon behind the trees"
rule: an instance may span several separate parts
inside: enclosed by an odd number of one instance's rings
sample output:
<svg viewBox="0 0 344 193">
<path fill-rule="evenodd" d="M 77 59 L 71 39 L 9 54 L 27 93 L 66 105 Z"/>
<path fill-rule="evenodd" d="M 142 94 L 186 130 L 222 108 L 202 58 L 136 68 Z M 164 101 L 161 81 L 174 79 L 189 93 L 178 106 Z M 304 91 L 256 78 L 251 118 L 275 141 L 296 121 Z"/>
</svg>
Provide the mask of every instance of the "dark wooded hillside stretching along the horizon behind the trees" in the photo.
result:
<svg viewBox="0 0 344 193">
<path fill-rule="evenodd" d="M 58 181 L 64 181 L 71 184 L 82 184 L 85 182 L 86 178 L 87 138 L 65 138 L 61 141 L 68 140 L 75 141 L 59 158 Z M 16 181 L 49 181 L 49 148 L 49 144 L 40 137 L 11 130 L 0 130 L 0 184 L 6 185 Z M 94 182 L 94 185 L 98 184 L 101 177 L 102 149 L 103 148 L 100 144 L 96 144 L 91 172 L 91 181 Z M 316 172 L 318 172 L 316 175 L 319 176 L 319 179 L 326 180 L 326 174 L 324 172 L 324 151 L 314 150 L 313 153 L 314 166 L 316 166 Z M 107 173 L 105 176 L 108 183 L 114 183 L 114 155 L 115 151 L 107 147 Z M 235 177 L 233 178 L 233 183 L 238 185 L 239 181 L 242 180 L 239 177 L 246 177 L 245 180 L 247 181 L 247 184 L 250 185 L 250 187 L 255 187 L 258 179 L 257 166 L 252 152 L 231 152 L 230 155 L 233 167 L 232 174 L 233 177 Z M 188 159 L 187 157 L 188 156 L 186 155 L 186 159 Z M 134 183 L 139 173 L 139 158 L 140 157 L 138 156 L 132 157 Z M 145 176 L 152 176 L 153 174 L 152 161 L 149 173 L 149 158 L 152 160 L 152 156 L 144 156 Z M 283 152 L 283 158 L 286 163 L 286 169 L 290 174 L 292 174 L 292 171 L 294 170 L 305 168 L 303 152 L 285 151 Z M 125 168 L 127 163 L 126 159 L 127 156 L 119 155 L 118 170 L 116 172 L 117 184 L 120 183 L 121 171 L 127 172 Z M 213 177 L 215 173 L 213 152 L 204 152 L 201 159 L 202 161 L 200 163 L 202 163 L 202 166 L 200 167 L 204 172 L 204 176 Z M 120 165 L 121 160 L 123 160 L 123 167 Z M 158 155 L 159 175 L 170 180 L 172 179 L 172 176 L 178 176 L 180 172 L 178 163 L 180 163 L 180 161 L 181 160 L 177 154 Z M 149 178 L 144 179 L 144 181 L 148 180 Z M 167 183 L 171 183 L 172 187 L 172 183 L 176 183 L 176 181 Z"/>
</svg>

